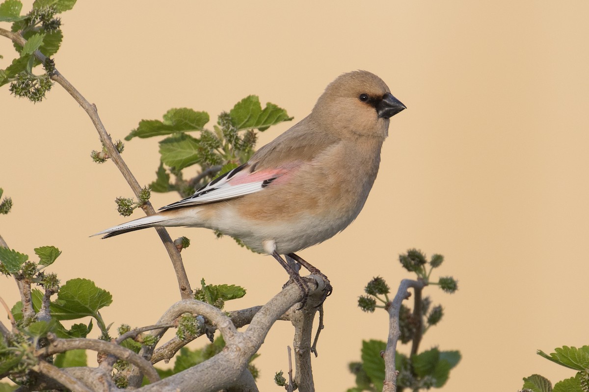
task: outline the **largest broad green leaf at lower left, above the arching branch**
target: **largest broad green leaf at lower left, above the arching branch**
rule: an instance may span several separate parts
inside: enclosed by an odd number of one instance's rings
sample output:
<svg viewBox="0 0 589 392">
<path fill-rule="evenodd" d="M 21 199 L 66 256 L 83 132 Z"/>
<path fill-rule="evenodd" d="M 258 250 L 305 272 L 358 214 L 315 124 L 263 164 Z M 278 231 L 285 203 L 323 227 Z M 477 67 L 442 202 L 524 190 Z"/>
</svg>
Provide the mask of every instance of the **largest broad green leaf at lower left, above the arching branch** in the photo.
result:
<svg viewBox="0 0 589 392">
<path fill-rule="evenodd" d="M 98 310 L 112 303 L 112 295 L 96 287 L 88 279 L 68 280 L 57 293 L 57 300 L 51 304 L 51 315 L 57 320 L 74 320 L 91 316 L 99 318 Z"/>
</svg>

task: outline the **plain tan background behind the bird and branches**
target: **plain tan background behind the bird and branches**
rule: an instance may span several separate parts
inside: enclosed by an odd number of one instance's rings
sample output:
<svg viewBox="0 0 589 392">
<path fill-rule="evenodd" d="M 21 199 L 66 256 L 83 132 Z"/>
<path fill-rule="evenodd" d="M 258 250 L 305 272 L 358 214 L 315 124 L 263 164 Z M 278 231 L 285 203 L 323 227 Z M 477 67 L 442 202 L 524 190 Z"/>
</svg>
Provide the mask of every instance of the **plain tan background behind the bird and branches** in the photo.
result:
<svg viewBox="0 0 589 392">
<path fill-rule="evenodd" d="M 62 15 L 55 61 L 114 138 L 173 107 L 216 119 L 248 94 L 299 121 L 342 72 L 378 74 L 408 109 L 391 119 L 366 207 L 300 253 L 334 286 L 313 360 L 317 390 L 353 386 L 347 364 L 362 338 L 388 333 L 386 314 L 362 313 L 356 298 L 374 275 L 391 285 L 409 277 L 398 254 L 418 247 L 444 254 L 439 274 L 459 280 L 454 295 L 427 293 L 445 318 L 422 347 L 463 355 L 445 390 L 515 391 L 532 373 L 574 375 L 538 348 L 589 343 L 588 16 L 584 1 L 80 1 Z M 6 67 L 6 39 L 0 53 Z M 107 323 L 154 323 L 179 299 L 155 231 L 88 238 L 124 221 L 113 200 L 131 191 L 114 165 L 90 160 L 100 144 L 85 113 L 59 86 L 36 105 L 5 86 L 0 114 L 0 187 L 14 200 L 2 237 L 29 255 L 59 247 L 50 270 L 62 281 L 87 277 L 112 293 Z M 292 124 L 270 128 L 260 145 Z M 141 184 L 154 179 L 157 149 L 155 139 L 126 144 Z M 205 277 L 249 290 L 229 309 L 264 303 L 286 280 L 276 261 L 232 240 L 170 231 L 192 240 L 183 256 L 193 287 Z M 0 277 L 0 295 L 14 303 L 14 281 Z M 261 390 L 277 390 L 288 344 L 292 327 L 279 323 L 255 361 Z"/>
</svg>

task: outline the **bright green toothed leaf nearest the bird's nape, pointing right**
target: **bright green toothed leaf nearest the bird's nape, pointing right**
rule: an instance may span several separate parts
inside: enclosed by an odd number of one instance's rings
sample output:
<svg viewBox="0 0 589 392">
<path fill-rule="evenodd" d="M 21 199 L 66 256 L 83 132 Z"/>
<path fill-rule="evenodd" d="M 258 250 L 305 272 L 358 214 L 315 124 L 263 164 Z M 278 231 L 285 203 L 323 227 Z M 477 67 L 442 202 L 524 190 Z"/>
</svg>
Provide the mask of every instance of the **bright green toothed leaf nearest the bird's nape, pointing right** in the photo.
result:
<svg viewBox="0 0 589 392">
<path fill-rule="evenodd" d="M 241 99 L 231 109 L 229 115 L 231 116 L 232 124 L 238 131 L 253 128 L 265 131 L 270 125 L 293 119 L 289 117 L 286 110 L 270 102 L 267 102 L 266 107 L 262 110 L 262 105 L 257 95 L 249 95 Z"/>
</svg>

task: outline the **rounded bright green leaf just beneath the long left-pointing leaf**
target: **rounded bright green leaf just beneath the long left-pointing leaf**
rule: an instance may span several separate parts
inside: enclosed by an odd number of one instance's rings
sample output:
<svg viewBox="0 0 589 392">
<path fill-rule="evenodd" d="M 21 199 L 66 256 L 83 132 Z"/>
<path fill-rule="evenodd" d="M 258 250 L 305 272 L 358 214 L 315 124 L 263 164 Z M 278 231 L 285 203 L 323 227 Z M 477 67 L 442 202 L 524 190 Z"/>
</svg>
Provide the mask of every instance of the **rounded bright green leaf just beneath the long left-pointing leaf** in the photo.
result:
<svg viewBox="0 0 589 392">
<path fill-rule="evenodd" d="M 164 164 L 181 170 L 201 161 L 200 144 L 187 134 L 177 134 L 160 142 L 161 161 Z"/>
</svg>

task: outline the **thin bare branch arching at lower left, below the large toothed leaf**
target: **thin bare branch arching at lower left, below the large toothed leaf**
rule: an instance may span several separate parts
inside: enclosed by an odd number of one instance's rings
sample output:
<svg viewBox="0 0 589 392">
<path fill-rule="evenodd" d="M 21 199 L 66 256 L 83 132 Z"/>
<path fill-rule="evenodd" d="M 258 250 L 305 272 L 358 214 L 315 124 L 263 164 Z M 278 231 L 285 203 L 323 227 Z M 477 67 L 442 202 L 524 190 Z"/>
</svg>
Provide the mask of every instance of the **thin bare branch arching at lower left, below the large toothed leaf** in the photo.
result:
<svg viewBox="0 0 589 392">
<path fill-rule="evenodd" d="M 101 351 L 104 353 L 112 354 L 121 358 L 122 360 L 128 361 L 134 366 L 137 366 L 145 374 L 152 383 L 160 380 L 157 371 L 151 366 L 149 361 L 144 360 L 142 357 L 135 354 L 133 351 L 127 348 L 118 346 L 117 344 L 110 343 L 104 340 L 88 339 L 88 338 L 72 338 L 72 339 L 58 339 L 55 335 L 48 335 L 49 346 L 39 348 L 35 350 L 35 356 L 52 356 L 58 353 L 64 353 L 69 350 L 84 349 Z"/>
</svg>

